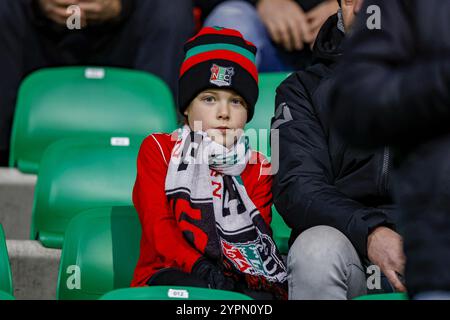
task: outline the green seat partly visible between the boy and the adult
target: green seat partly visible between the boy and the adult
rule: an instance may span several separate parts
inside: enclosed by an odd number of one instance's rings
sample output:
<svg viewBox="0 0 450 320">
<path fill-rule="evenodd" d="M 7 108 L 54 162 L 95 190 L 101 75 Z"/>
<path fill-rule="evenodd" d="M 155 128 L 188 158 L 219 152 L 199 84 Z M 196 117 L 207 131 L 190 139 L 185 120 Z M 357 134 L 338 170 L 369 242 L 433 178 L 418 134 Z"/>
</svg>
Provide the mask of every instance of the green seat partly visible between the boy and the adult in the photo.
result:
<svg viewBox="0 0 450 320">
<path fill-rule="evenodd" d="M 289 73 L 261 73 L 259 76 L 259 99 L 255 115 L 245 127 L 250 137 L 251 146 L 271 158 L 270 124 L 275 112 L 276 88 L 289 76 Z M 261 130 L 262 131 L 258 131 Z M 272 159 L 273 160 L 273 159 Z M 272 161 L 273 162 L 273 161 Z M 288 252 L 291 229 L 285 224 L 275 206 L 272 207 L 272 224 L 274 240 L 283 254 Z"/>
</svg>

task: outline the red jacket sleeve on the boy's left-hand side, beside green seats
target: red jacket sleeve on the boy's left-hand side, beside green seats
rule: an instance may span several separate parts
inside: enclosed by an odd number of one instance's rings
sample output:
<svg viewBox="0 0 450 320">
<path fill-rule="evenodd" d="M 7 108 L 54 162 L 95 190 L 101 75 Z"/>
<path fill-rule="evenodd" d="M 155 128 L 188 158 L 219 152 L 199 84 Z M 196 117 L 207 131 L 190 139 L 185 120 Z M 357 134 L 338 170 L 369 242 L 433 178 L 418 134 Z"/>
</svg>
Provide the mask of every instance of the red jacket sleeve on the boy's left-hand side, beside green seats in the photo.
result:
<svg viewBox="0 0 450 320">
<path fill-rule="evenodd" d="M 155 244 L 158 255 L 175 261 L 184 272 L 191 272 L 201 254 L 184 238 L 169 207 L 164 191 L 165 161 L 153 137 L 145 139 L 137 160 L 133 203 L 139 214 L 143 236 Z"/>
</svg>

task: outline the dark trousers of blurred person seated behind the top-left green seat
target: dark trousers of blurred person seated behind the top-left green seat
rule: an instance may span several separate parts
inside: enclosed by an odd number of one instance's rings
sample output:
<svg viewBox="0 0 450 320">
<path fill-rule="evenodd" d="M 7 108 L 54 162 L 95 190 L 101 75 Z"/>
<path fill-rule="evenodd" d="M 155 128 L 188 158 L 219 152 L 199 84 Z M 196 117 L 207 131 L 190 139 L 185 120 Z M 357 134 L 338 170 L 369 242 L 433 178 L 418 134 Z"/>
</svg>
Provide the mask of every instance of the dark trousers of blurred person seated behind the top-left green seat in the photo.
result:
<svg viewBox="0 0 450 320">
<path fill-rule="evenodd" d="M 55 28 L 32 0 L 0 0 L 0 166 L 7 164 L 21 81 L 40 68 L 93 65 L 138 69 L 161 77 L 176 94 L 184 42 L 194 33 L 192 3 L 136 0 L 119 24 Z"/>
</svg>

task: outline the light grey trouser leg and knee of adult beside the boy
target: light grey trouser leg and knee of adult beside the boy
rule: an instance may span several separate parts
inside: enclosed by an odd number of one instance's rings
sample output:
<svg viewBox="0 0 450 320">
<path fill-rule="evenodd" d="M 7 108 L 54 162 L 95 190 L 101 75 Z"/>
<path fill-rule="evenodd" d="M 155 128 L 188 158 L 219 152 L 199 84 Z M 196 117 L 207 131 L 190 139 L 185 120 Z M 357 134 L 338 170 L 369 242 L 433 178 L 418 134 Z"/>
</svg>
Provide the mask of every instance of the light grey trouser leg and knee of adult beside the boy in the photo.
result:
<svg viewBox="0 0 450 320">
<path fill-rule="evenodd" d="M 365 273 L 350 240 L 317 226 L 301 233 L 288 255 L 291 299 L 351 299 L 365 292 Z"/>
</svg>

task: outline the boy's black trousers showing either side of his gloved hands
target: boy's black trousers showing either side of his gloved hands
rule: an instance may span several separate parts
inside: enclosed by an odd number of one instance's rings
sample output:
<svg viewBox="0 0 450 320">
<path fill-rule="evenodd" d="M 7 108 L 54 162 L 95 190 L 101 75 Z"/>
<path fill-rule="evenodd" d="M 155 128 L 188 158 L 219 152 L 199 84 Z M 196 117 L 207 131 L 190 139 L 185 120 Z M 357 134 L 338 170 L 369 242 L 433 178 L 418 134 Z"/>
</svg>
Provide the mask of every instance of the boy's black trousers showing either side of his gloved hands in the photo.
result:
<svg viewBox="0 0 450 320">
<path fill-rule="evenodd" d="M 147 282 L 149 286 L 181 286 L 209 288 L 208 283 L 194 274 L 185 273 L 175 268 L 161 269 Z M 271 293 L 246 288 L 245 284 L 237 284 L 236 292 L 243 293 L 255 300 L 273 300 Z"/>
</svg>

